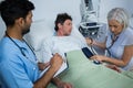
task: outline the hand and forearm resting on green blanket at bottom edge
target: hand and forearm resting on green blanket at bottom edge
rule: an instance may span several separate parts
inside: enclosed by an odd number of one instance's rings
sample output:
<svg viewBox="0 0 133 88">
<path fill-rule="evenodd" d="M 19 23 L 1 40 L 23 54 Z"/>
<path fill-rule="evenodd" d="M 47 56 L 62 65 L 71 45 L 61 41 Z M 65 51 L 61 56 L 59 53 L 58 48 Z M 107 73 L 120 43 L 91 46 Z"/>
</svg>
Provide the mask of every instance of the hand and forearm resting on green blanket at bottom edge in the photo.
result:
<svg viewBox="0 0 133 88">
<path fill-rule="evenodd" d="M 58 88 L 72 88 L 72 85 L 70 82 L 65 82 L 60 80 L 58 77 L 52 78 L 52 82 L 58 87 Z"/>
</svg>

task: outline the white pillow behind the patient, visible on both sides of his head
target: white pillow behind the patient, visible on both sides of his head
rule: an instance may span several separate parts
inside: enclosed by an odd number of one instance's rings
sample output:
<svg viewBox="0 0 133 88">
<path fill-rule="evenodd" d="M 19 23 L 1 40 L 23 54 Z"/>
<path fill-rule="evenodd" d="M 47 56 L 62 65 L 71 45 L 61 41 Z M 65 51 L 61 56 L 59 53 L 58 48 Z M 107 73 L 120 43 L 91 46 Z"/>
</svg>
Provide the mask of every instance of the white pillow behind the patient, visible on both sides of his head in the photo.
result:
<svg viewBox="0 0 133 88">
<path fill-rule="evenodd" d="M 54 21 L 39 20 L 34 21 L 31 25 L 30 33 L 24 38 L 33 47 L 35 52 L 41 50 L 42 42 L 53 35 L 54 33 Z M 83 35 L 79 32 L 78 28 L 73 24 L 72 36 L 78 37 L 82 42 L 84 41 Z"/>
</svg>

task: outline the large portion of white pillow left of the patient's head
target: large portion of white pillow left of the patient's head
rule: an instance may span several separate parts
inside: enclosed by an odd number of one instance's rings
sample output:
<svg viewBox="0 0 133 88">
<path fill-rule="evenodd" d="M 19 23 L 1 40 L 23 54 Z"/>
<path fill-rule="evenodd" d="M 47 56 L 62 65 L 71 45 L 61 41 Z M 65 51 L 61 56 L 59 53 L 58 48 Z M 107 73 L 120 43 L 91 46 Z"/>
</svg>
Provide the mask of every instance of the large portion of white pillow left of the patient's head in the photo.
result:
<svg viewBox="0 0 133 88">
<path fill-rule="evenodd" d="M 33 47 L 34 51 L 40 51 L 42 41 L 53 35 L 53 28 L 50 26 L 50 24 L 47 21 L 34 21 L 31 24 L 30 32 L 24 36 L 24 38 Z"/>
</svg>

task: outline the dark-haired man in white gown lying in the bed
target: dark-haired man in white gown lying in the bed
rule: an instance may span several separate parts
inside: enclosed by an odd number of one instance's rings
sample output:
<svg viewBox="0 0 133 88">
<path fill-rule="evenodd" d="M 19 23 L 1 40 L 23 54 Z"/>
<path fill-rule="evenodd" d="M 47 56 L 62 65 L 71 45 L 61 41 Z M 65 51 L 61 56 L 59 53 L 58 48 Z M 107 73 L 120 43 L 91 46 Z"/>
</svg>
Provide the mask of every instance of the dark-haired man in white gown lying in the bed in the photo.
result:
<svg viewBox="0 0 133 88">
<path fill-rule="evenodd" d="M 55 33 L 47 38 L 42 45 L 43 59 L 49 62 L 53 54 L 59 53 L 64 57 L 64 53 L 86 47 L 86 44 L 71 35 L 72 18 L 68 13 L 59 13 L 54 22 Z"/>
</svg>

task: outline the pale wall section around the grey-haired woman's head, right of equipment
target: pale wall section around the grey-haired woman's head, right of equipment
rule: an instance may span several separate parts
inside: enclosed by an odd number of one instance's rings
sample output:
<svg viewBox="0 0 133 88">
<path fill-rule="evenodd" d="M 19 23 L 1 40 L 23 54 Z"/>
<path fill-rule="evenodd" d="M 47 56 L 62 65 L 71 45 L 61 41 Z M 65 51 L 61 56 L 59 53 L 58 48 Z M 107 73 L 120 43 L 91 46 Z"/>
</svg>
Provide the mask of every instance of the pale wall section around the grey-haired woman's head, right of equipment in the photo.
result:
<svg viewBox="0 0 133 88">
<path fill-rule="evenodd" d="M 100 0 L 100 19 L 101 22 L 106 22 L 108 12 L 115 7 L 124 8 L 130 16 L 133 14 L 133 0 Z"/>
</svg>

